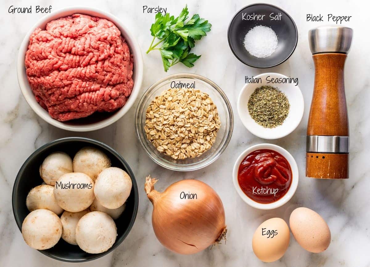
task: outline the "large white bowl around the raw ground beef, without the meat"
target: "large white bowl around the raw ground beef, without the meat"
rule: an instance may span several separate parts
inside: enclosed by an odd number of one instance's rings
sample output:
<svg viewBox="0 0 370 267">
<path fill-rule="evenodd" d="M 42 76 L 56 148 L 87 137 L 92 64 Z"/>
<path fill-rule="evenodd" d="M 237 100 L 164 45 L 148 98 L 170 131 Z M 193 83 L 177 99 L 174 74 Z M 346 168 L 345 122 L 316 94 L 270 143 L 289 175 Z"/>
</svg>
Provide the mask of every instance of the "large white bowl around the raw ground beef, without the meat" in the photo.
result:
<svg viewBox="0 0 370 267">
<path fill-rule="evenodd" d="M 131 54 L 134 57 L 134 71 L 133 71 L 133 80 L 134 80 L 134 88 L 132 88 L 132 93 L 129 96 L 126 104 L 120 108 L 116 112 L 112 112 L 109 115 L 99 115 L 97 112 L 95 114 L 88 116 L 87 118 L 78 119 L 76 121 L 66 121 L 60 122 L 56 119 L 51 118 L 48 112 L 43 109 L 36 101 L 35 96 L 31 90 L 30 85 L 28 84 L 27 76 L 26 76 L 26 68 L 24 67 L 24 58 L 26 55 L 27 47 L 29 44 L 29 39 L 31 33 L 35 30 L 35 28 L 45 28 L 45 25 L 51 21 L 55 20 L 56 18 L 70 16 L 72 14 L 81 13 L 87 14 L 90 16 L 96 16 L 101 18 L 106 18 L 112 21 L 117 28 L 121 31 L 121 35 L 125 38 Z M 28 105 L 33 109 L 34 112 L 38 116 L 40 116 L 44 121 L 48 122 L 51 125 L 54 125 L 60 129 L 65 129 L 69 131 L 75 132 L 87 132 L 87 131 L 94 131 L 97 129 L 104 128 L 108 125 L 111 125 L 118 119 L 120 119 L 134 104 L 136 98 L 139 95 L 139 91 L 141 89 L 141 83 L 143 78 L 143 70 L 144 70 L 144 63 L 142 60 L 142 54 L 137 43 L 134 35 L 128 31 L 128 29 L 124 26 L 124 24 L 118 20 L 117 17 L 109 14 L 107 12 L 92 9 L 90 7 L 68 7 L 65 9 L 60 9 L 54 11 L 44 17 L 42 17 L 31 29 L 28 31 L 26 36 L 24 37 L 22 44 L 19 49 L 18 60 L 17 60 L 17 75 L 18 75 L 18 82 L 21 88 L 22 94 L 26 99 Z"/>
</svg>

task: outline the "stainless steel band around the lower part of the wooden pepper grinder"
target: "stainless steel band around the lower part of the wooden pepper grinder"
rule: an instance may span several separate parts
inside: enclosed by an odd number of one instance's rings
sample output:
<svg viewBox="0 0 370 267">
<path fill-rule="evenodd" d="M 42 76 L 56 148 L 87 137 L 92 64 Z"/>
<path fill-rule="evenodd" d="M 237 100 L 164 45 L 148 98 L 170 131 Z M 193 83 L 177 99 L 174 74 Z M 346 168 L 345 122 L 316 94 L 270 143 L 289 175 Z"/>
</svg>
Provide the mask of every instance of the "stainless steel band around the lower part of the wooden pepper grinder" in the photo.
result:
<svg viewBox="0 0 370 267">
<path fill-rule="evenodd" d="M 306 152 L 349 153 L 349 136 L 307 135 Z"/>
</svg>

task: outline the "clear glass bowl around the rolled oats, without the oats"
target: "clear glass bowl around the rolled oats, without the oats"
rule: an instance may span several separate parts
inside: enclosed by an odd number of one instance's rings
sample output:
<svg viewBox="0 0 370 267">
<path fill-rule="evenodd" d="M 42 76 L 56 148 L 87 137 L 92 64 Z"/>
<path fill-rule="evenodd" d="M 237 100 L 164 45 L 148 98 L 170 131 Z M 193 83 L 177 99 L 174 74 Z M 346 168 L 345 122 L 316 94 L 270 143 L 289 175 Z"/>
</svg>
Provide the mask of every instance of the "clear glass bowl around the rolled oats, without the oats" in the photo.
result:
<svg viewBox="0 0 370 267">
<path fill-rule="evenodd" d="M 144 131 L 145 114 L 151 101 L 163 91 L 171 88 L 171 83 L 195 83 L 195 89 L 205 92 L 211 97 L 216 105 L 221 121 L 221 127 L 217 132 L 216 141 L 212 147 L 201 156 L 187 159 L 173 159 L 161 152 L 147 139 Z M 233 131 L 233 113 L 230 102 L 225 93 L 211 80 L 197 74 L 178 73 L 169 75 L 154 83 L 144 93 L 139 101 L 135 114 L 135 130 L 139 142 L 145 152 L 148 153 L 154 162 L 171 170 L 188 171 L 204 168 L 215 161 L 229 144 Z"/>
</svg>

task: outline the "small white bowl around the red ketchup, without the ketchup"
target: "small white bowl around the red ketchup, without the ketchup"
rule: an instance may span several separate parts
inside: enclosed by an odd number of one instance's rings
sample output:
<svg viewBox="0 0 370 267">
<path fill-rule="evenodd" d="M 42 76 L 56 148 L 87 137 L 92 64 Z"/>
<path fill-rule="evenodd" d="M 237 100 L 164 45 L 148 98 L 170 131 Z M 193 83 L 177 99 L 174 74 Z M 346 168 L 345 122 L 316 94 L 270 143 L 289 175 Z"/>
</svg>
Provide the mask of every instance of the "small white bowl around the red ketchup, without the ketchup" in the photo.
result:
<svg viewBox="0 0 370 267">
<path fill-rule="evenodd" d="M 273 151 L 276 151 L 280 153 L 290 164 L 290 168 L 292 169 L 292 183 L 290 184 L 290 187 L 288 189 L 288 192 L 279 200 L 272 202 L 272 203 L 258 203 L 254 201 L 253 199 L 249 198 L 243 190 L 239 186 L 238 182 L 238 170 L 240 163 L 242 163 L 243 159 L 249 154 L 252 153 L 253 151 L 259 150 L 259 149 L 271 149 Z M 233 169 L 233 183 L 236 189 L 236 192 L 238 192 L 239 196 L 244 200 L 245 203 L 247 203 L 249 206 L 255 207 L 256 209 L 260 210 L 271 210 L 271 209 L 276 209 L 277 207 L 283 206 L 285 203 L 287 203 L 294 193 L 296 192 L 297 186 L 298 186 L 298 166 L 293 158 L 292 155 L 288 151 L 286 151 L 284 148 L 273 145 L 273 144 L 258 144 L 251 146 L 250 148 L 246 149 L 243 153 L 240 154 L 238 159 L 235 162 L 234 169 Z"/>
</svg>

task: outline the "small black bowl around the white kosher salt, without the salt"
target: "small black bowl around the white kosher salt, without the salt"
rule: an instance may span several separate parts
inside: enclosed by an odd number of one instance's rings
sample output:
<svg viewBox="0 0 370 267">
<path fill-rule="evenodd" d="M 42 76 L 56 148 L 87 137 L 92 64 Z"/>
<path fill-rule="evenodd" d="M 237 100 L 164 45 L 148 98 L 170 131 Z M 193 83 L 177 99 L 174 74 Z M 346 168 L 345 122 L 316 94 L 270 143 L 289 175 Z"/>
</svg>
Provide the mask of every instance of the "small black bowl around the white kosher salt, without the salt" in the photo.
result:
<svg viewBox="0 0 370 267">
<path fill-rule="evenodd" d="M 265 15 L 263 20 L 242 20 L 243 13 Z M 270 20 L 270 14 L 282 14 L 281 20 Z M 269 57 L 254 57 L 244 47 L 244 37 L 255 26 L 266 26 L 275 31 L 278 44 Z M 270 68 L 286 61 L 294 52 L 298 42 L 297 26 L 284 10 L 271 4 L 251 4 L 240 9 L 232 18 L 228 29 L 228 41 L 232 53 L 244 64 L 255 68 Z"/>
</svg>

